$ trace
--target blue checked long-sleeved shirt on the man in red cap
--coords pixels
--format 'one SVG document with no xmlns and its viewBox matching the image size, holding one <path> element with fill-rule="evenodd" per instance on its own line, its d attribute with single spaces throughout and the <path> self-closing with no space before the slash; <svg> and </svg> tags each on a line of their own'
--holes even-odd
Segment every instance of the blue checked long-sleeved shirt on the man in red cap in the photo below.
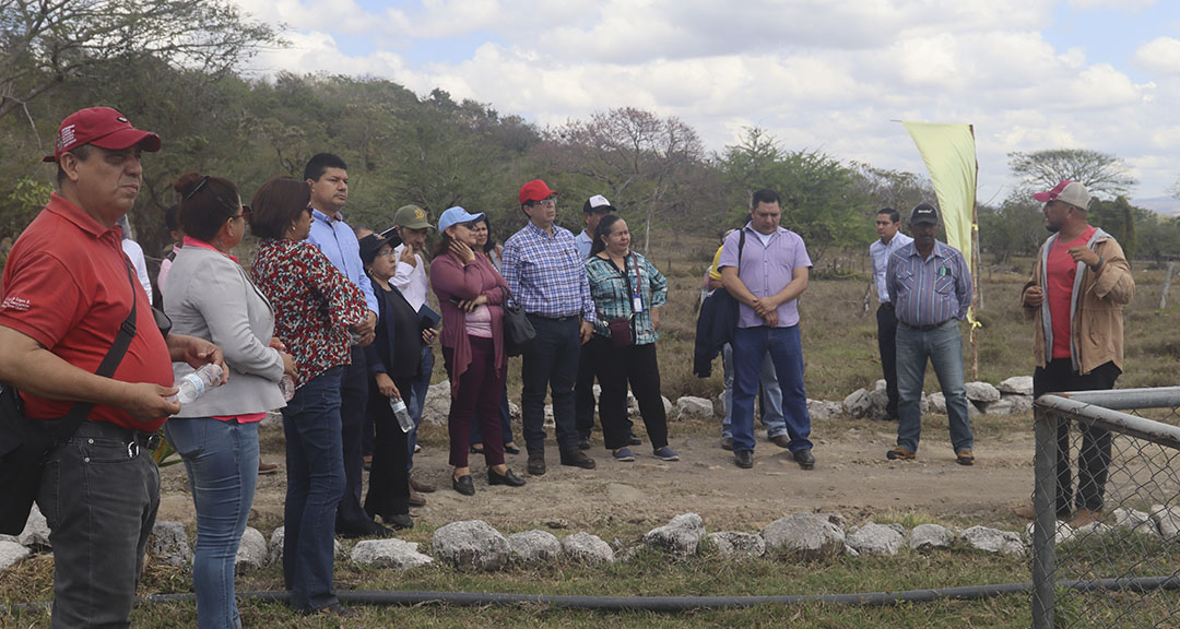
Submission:
<svg viewBox="0 0 1180 629">
<path fill-rule="evenodd" d="M 527 314 L 551 319 L 582 315 L 592 323 L 594 300 L 573 234 L 557 225 L 552 229 L 552 235 L 545 234 L 530 221 L 504 243 L 504 281 Z"/>
</svg>

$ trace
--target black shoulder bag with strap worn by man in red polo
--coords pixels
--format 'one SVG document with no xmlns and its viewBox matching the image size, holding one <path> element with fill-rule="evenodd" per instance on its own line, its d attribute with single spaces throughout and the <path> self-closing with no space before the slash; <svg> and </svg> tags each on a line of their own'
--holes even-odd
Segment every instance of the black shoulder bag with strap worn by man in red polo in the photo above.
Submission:
<svg viewBox="0 0 1180 629">
<path fill-rule="evenodd" d="M 103 378 L 114 375 L 131 339 L 136 335 L 135 275 L 127 262 L 131 287 L 131 313 L 119 326 L 114 342 L 94 372 Z M 91 402 L 74 402 L 60 419 L 30 419 L 21 407 L 17 387 L 0 382 L 0 533 L 19 535 L 25 529 L 28 513 L 41 485 L 45 458 L 58 444 L 73 437 L 93 408 Z"/>
</svg>

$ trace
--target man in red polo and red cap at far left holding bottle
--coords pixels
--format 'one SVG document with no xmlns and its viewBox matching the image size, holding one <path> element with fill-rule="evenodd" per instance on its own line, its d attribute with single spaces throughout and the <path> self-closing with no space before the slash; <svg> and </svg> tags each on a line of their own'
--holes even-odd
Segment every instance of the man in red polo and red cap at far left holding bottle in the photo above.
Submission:
<svg viewBox="0 0 1180 629">
<path fill-rule="evenodd" d="M 116 222 L 139 195 L 140 152 L 159 148 L 112 109 L 66 118 L 45 158 L 58 164 L 58 191 L 0 283 L 0 380 L 20 389 L 31 419 L 86 417 L 46 456 L 37 493 L 52 530 L 53 627 L 127 624 L 159 506 L 150 438 L 181 409 L 169 400 L 171 362 L 224 368 L 208 341 L 164 339 L 120 247 Z M 111 378 L 97 375 L 132 309 L 125 354 Z"/>
</svg>

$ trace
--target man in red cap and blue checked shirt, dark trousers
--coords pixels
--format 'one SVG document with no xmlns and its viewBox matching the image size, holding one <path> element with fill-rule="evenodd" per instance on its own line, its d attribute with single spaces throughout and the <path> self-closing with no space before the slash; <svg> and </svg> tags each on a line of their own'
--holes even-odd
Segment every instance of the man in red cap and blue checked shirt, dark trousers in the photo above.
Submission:
<svg viewBox="0 0 1180 629">
<path fill-rule="evenodd" d="M 529 473 L 545 473 L 545 386 L 553 397 L 553 421 L 562 465 L 594 470 L 594 459 L 578 448 L 573 382 L 582 343 L 594 333 L 595 307 L 585 263 L 573 234 L 553 221 L 557 192 L 533 179 L 520 186 L 520 209 L 529 224 L 504 243 L 504 280 L 513 301 L 537 330 L 522 356 L 520 413 Z"/>
</svg>

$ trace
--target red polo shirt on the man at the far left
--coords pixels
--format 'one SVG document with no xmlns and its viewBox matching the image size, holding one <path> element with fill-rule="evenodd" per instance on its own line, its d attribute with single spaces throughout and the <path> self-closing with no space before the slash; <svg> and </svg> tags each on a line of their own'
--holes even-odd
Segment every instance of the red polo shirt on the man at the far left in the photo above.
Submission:
<svg viewBox="0 0 1180 629">
<path fill-rule="evenodd" d="M 136 293 L 136 335 L 114 372 L 124 382 L 172 386 L 168 346 L 139 282 L 127 279 L 117 229 L 106 228 L 57 194 L 17 238 L 0 282 L 0 326 L 32 338 L 87 372 L 114 342 Z M 21 393 L 28 417 L 65 415 L 71 401 Z M 94 421 L 155 432 L 166 418 L 138 422 L 113 406 L 94 406 Z"/>
</svg>

